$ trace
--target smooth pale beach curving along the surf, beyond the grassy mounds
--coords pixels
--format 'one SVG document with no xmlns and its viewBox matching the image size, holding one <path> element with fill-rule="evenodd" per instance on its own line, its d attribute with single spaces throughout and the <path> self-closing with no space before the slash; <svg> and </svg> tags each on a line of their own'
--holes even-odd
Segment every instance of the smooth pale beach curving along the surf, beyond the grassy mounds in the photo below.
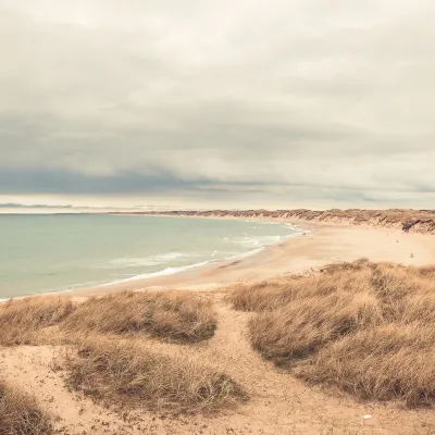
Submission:
<svg viewBox="0 0 435 435">
<path fill-rule="evenodd" d="M 282 219 L 279 221 L 285 222 Z M 71 294 L 86 297 L 150 287 L 211 289 L 234 283 L 253 283 L 302 273 L 328 263 L 360 258 L 409 265 L 435 262 L 435 237 L 432 235 L 403 233 L 397 228 L 316 223 L 295 219 L 286 222 L 308 232 L 246 258 L 216 262 L 169 276 L 75 289 Z"/>
</svg>

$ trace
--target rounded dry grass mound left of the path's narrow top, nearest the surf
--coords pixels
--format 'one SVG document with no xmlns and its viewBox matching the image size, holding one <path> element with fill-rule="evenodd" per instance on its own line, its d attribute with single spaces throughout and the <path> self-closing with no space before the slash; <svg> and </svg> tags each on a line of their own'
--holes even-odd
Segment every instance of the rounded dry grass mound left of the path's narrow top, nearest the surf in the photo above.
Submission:
<svg viewBox="0 0 435 435">
<path fill-rule="evenodd" d="M 211 302 L 188 291 L 123 291 L 91 298 L 62 323 L 71 332 L 147 334 L 187 343 L 212 337 L 215 326 Z"/>
</svg>

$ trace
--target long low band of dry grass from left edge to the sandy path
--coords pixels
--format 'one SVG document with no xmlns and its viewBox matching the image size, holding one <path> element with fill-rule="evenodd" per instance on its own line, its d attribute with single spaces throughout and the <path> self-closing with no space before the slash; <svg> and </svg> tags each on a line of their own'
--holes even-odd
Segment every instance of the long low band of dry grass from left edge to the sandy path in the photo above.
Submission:
<svg viewBox="0 0 435 435">
<path fill-rule="evenodd" d="M 0 345 L 80 341 L 89 333 L 149 335 L 179 343 L 213 336 L 210 301 L 183 291 L 123 291 L 75 303 L 37 296 L 0 304 Z"/>
</svg>

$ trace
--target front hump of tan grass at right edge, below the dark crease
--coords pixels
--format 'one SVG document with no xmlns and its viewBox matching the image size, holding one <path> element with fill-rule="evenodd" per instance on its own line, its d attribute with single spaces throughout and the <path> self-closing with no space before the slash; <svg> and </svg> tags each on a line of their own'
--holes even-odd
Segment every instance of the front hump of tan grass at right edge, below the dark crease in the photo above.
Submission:
<svg viewBox="0 0 435 435">
<path fill-rule="evenodd" d="M 311 384 L 338 386 L 362 399 L 435 402 L 435 331 L 413 323 L 359 331 L 322 349 L 296 373 Z"/>
</svg>

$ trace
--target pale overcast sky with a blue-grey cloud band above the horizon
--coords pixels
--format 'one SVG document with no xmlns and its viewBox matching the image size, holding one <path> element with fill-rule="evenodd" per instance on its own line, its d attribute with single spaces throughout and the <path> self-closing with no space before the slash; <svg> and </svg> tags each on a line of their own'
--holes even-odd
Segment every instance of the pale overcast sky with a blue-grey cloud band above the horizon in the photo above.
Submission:
<svg viewBox="0 0 435 435">
<path fill-rule="evenodd" d="M 0 210 L 435 208 L 435 2 L 0 0 Z"/>
</svg>

